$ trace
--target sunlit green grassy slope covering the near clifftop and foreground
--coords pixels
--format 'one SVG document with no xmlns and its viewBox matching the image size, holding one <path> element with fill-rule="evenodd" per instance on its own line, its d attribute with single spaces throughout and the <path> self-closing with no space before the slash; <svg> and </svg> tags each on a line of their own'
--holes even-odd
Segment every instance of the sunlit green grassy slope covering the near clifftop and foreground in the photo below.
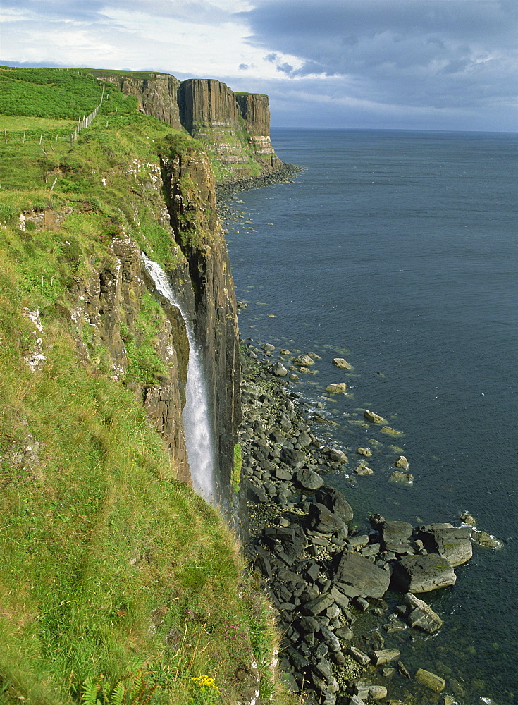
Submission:
<svg viewBox="0 0 518 705">
<path fill-rule="evenodd" d="M 36 117 L 45 117 L 44 80 L 28 78 L 24 105 L 32 96 Z M 75 112 L 92 109 L 92 82 L 77 81 L 85 107 Z M 56 112 L 47 119 L 68 117 Z M 244 577 L 235 540 L 175 481 L 142 407 L 102 372 L 102 351 L 96 357 L 90 345 L 90 360 L 80 362 L 80 331 L 61 313 L 73 307 L 74 280 L 87 280 L 121 231 L 162 264 L 180 256 L 154 219 L 156 204 L 136 199 L 128 176 L 138 162 L 140 183 L 147 168 L 152 178 L 153 140 L 170 132 L 109 87 L 73 149 L 53 141 L 51 127 L 47 154 L 0 142 L 1 704 L 76 702 L 89 679 L 104 674 L 113 685 L 128 673 L 142 674 L 144 694 L 156 686 L 152 703 L 185 705 L 195 693 L 232 703 L 252 648 L 267 670 L 268 611 Z M 21 210 L 65 207 L 73 211 L 58 230 L 18 228 Z M 42 333 L 24 307 L 39 309 Z M 152 330 L 160 309 L 152 301 L 143 309 L 156 319 L 143 323 Z M 37 336 L 47 362 L 34 373 L 23 357 Z M 202 694 L 192 681 L 202 675 L 214 677 L 221 697 L 210 686 Z"/>
</svg>

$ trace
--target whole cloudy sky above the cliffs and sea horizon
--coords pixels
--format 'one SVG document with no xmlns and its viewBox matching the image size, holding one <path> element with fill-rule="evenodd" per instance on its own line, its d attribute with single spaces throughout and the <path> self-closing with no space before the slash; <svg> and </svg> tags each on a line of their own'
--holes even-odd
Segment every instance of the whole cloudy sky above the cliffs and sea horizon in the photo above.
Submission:
<svg viewBox="0 0 518 705">
<path fill-rule="evenodd" d="M 518 130 L 517 0 L 0 0 L 0 63 L 266 93 L 271 125 Z"/>
</svg>

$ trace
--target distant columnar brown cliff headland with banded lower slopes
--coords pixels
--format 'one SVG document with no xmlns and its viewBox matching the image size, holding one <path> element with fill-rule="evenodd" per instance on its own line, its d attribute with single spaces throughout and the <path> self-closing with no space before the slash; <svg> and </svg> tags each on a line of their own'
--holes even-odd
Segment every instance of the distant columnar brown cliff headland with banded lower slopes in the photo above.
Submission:
<svg viewBox="0 0 518 705">
<path fill-rule="evenodd" d="M 180 82 L 166 73 L 92 73 L 137 97 L 145 114 L 200 140 L 212 157 L 218 181 L 259 176 L 283 166 L 271 145 L 267 95 L 234 93 L 209 78 Z"/>
</svg>

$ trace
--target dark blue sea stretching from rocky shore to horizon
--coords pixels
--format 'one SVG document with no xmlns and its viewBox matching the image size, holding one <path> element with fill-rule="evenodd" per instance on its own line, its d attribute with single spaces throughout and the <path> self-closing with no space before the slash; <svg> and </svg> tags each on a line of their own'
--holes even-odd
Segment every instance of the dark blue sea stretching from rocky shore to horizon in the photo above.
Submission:
<svg viewBox="0 0 518 705">
<path fill-rule="evenodd" d="M 234 201 L 240 333 L 321 357 L 293 388 L 338 423 L 331 442 L 351 471 L 357 446 L 374 451 L 374 475 L 327 476 L 357 527 L 373 512 L 459 526 L 467 510 L 503 541 L 474 546 L 457 584 L 426 596 L 438 635 L 395 645 L 462 705 L 518 703 L 518 135 L 282 129 L 272 141 L 306 170 Z M 333 381 L 347 395 L 327 395 Z M 403 435 L 365 427 L 366 408 Z M 397 448 L 412 487 L 388 482 Z M 405 692 L 395 678 L 390 692 Z"/>
</svg>

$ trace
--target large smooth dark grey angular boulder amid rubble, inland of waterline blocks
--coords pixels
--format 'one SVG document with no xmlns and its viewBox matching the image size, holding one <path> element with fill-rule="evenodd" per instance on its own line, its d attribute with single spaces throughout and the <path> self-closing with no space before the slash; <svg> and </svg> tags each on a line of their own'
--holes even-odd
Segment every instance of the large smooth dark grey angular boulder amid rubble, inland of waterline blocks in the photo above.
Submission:
<svg viewBox="0 0 518 705">
<path fill-rule="evenodd" d="M 333 584 L 348 597 L 381 598 L 388 590 L 390 575 L 359 553 L 338 553 Z M 408 591 L 408 590 L 407 590 Z"/>
</svg>

